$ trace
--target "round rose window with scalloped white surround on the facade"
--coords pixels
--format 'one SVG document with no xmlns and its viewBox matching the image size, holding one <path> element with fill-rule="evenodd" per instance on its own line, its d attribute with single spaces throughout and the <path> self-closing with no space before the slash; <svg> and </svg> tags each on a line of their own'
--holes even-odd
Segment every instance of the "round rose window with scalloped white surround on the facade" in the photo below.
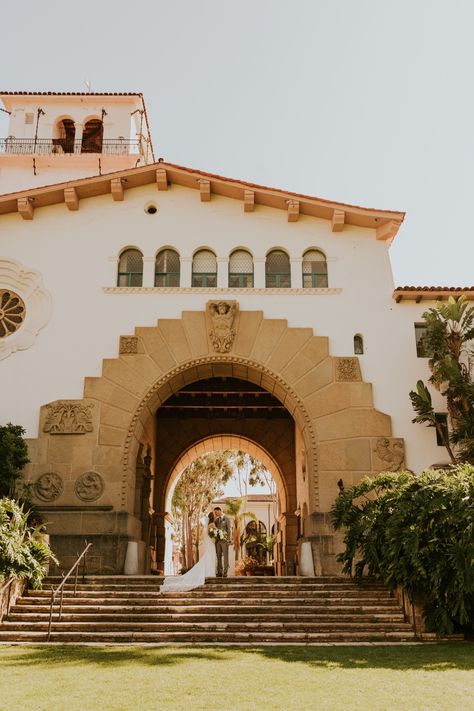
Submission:
<svg viewBox="0 0 474 711">
<path fill-rule="evenodd" d="M 0 360 L 30 348 L 51 314 L 41 274 L 14 259 L 0 259 Z"/>
</svg>

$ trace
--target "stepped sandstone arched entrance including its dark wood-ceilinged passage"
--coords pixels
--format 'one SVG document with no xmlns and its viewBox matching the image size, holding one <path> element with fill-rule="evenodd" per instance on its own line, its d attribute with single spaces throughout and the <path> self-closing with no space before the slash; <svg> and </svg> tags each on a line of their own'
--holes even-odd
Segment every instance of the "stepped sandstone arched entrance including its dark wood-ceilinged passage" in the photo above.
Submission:
<svg viewBox="0 0 474 711">
<path fill-rule="evenodd" d="M 235 387 L 222 394 L 224 382 Z M 64 567 L 87 536 L 96 571 L 121 572 L 127 542 L 150 540 L 150 515 L 158 552 L 172 472 L 183 453 L 222 436 L 256 443 L 278 463 L 292 541 L 311 540 L 323 573 L 339 569 L 329 518 L 337 482 L 403 464 L 403 442 L 374 409 L 356 357 L 330 356 L 312 329 L 209 302 L 121 336 L 118 356 L 85 379 L 82 400 L 41 408 L 28 474 Z"/>
</svg>

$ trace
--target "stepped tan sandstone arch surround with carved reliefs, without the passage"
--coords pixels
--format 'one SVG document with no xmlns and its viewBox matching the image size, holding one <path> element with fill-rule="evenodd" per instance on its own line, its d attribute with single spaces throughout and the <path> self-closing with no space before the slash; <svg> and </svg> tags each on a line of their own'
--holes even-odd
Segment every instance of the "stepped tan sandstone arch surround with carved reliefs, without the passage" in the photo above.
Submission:
<svg viewBox="0 0 474 711">
<path fill-rule="evenodd" d="M 146 446 L 156 460 L 155 413 L 187 383 L 230 373 L 264 388 L 289 412 L 297 509 L 307 511 L 302 533 L 313 542 L 320 572 L 337 569 L 328 519 L 337 481 L 402 466 L 403 442 L 392 438 L 390 417 L 373 407 L 356 357 L 331 356 L 328 339 L 312 329 L 220 304 L 121 336 L 119 354 L 103 361 L 101 376 L 85 378 L 82 400 L 41 408 L 28 475 L 39 480 L 38 502 L 53 522 L 65 567 L 77 537 L 87 535 L 96 539 L 97 570 L 120 572 L 127 540 L 142 535 L 137 455 Z"/>
</svg>

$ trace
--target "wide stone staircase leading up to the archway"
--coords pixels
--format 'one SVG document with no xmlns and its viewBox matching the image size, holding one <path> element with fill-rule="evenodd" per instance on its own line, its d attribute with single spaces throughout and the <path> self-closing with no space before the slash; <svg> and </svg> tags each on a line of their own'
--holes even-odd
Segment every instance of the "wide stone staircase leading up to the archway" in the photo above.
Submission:
<svg viewBox="0 0 474 711">
<path fill-rule="evenodd" d="M 50 642 L 110 644 L 318 644 L 415 640 L 390 592 L 347 578 L 208 578 L 190 592 L 161 594 L 153 576 L 87 576 L 55 605 Z M 50 586 L 18 598 L 0 642 L 47 639 Z"/>
</svg>

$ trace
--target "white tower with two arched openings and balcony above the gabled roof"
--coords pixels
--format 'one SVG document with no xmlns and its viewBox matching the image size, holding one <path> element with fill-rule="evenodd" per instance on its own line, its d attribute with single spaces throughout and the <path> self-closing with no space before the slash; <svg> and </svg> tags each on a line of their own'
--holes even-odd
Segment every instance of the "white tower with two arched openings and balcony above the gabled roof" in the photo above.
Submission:
<svg viewBox="0 0 474 711">
<path fill-rule="evenodd" d="M 0 92 L 0 194 L 154 162 L 139 93 Z"/>
</svg>

